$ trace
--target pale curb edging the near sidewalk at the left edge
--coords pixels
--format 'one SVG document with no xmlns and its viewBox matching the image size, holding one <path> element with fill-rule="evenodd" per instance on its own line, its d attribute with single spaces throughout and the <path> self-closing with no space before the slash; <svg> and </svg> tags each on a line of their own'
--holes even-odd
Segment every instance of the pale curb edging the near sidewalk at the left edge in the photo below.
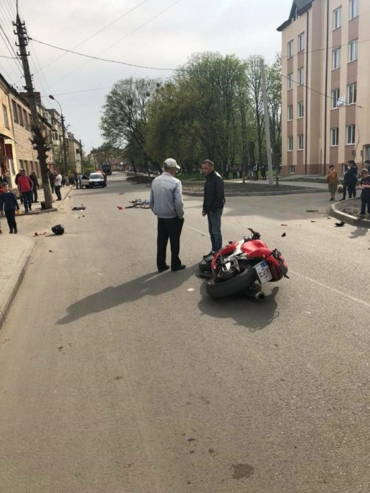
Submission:
<svg viewBox="0 0 370 493">
<path fill-rule="evenodd" d="M 19 287 L 21 286 L 23 277 L 25 277 L 25 273 L 29 266 L 29 262 L 31 262 L 34 249 L 36 248 L 36 242 L 31 239 L 30 241 L 32 241 L 32 246 L 23 251 L 23 254 L 18 262 L 20 267 L 16 268 L 16 271 L 12 273 L 8 281 L 6 281 L 5 288 L 3 288 L 0 292 L 0 330 L 6 323 L 6 318 L 10 308 L 12 307 L 12 303 L 16 297 Z"/>
</svg>

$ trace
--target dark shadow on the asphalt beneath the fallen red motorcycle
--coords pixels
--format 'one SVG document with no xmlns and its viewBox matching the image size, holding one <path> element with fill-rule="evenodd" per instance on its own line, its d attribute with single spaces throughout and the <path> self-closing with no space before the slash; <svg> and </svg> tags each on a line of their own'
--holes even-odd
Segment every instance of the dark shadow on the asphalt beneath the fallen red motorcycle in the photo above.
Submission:
<svg viewBox="0 0 370 493">
<path fill-rule="evenodd" d="M 256 332 L 270 325 L 280 315 L 277 311 L 275 296 L 279 288 L 274 286 L 271 293 L 265 290 L 266 297 L 257 301 L 249 296 L 233 296 L 230 298 L 211 299 L 206 293 L 206 284 L 201 286 L 202 299 L 198 303 L 199 310 L 214 318 L 234 318 L 236 325 L 241 325 Z"/>
</svg>

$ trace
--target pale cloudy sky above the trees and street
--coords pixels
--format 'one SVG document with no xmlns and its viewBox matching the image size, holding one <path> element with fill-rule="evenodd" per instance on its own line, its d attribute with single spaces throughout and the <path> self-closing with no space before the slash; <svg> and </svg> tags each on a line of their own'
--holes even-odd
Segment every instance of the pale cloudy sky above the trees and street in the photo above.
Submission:
<svg viewBox="0 0 370 493">
<path fill-rule="evenodd" d="M 293 0 L 18 0 L 29 42 L 34 88 L 47 108 L 59 109 L 82 140 L 84 153 L 102 142 L 99 122 L 106 94 L 126 77 L 171 77 L 171 71 L 90 60 L 42 45 L 128 64 L 177 68 L 202 51 L 262 55 L 272 63 L 281 49 L 276 28 Z M 0 0 L 0 55 L 14 57 L 11 21 L 16 0 Z M 108 26 L 108 27 L 107 27 Z M 98 32 L 100 31 L 100 32 Z M 98 34 L 96 34 L 98 33 Z M 90 38 L 90 39 L 88 39 Z M 82 43 L 82 44 L 81 44 Z M 10 47 L 10 44 L 13 46 Z M 17 60 L 1 58 L 0 73 L 14 87 L 24 84 Z"/>
</svg>

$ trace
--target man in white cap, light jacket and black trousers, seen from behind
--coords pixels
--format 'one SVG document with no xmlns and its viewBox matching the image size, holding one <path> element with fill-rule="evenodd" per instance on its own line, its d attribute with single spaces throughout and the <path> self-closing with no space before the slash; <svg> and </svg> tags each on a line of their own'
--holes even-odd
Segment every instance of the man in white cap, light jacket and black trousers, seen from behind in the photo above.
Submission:
<svg viewBox="0 0 370 493">
<path fill-rule="evenodd" d="M 175 178 L 177 162 L 169 157 L 164 161 L 162 175 L 153 179 L 150 192 L 150 208 L 158 218 L 157 268 L 162 273 L 169 269 L 166 264 L 167 243 L 171 245 L 171 270 L 186 268 L 181 263 L 180 236 L 184 225 L 184 203 L 182 202 L 182 184 Z"/>
</svg>

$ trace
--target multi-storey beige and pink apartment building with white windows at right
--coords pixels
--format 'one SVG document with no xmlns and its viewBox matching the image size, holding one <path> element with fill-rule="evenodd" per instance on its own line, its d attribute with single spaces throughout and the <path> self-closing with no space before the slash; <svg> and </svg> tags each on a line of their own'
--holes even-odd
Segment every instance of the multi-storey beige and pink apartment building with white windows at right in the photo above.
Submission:
<svg viewBox="0 0 370 493">
<path fill-rule="evenodd" d="M 295 0 L 282 33 L 282 174 L 370 160 L 369 0 Z"/>
</svg>

